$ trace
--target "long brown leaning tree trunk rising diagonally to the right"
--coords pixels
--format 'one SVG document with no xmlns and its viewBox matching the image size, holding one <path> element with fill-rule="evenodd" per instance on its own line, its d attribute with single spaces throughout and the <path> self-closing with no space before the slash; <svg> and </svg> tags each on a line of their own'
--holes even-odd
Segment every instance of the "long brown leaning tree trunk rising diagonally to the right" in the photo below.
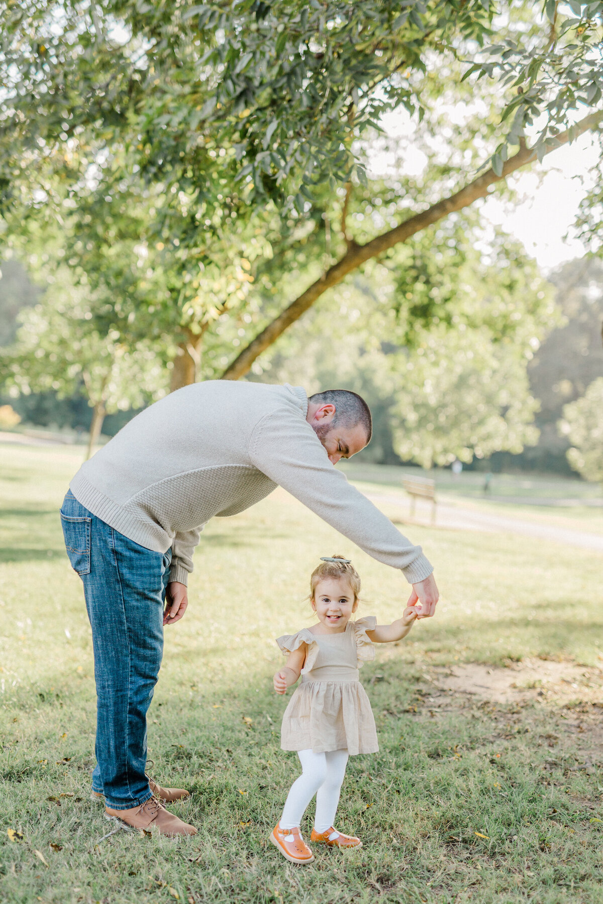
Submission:
<svg viewBox="0 0 603 904">
<path fill-rule="evenodd" d="M 570 140 L 573 141 L 583 132 L 596 127 L 601 118 L 603 118 L 603 113 L 598 112 L 581 119 L 567 132 L 562 132 L 558 135 L 556 138 L 557 143 L 554 146 L 547 147 L 545 153 L 550 154 L 557 147 L 567 144 Z M 240 377 L 249 372 L 256 358 L 275 343 L 288 326 L 295 323 L 301 315 L 305 314 L 308 308 L 313 306 L 316 300 L 325 294 L 327 289 L 342 282 L 348 273 L 360 267 L 367 260 L 382 254 L 383 251 L 393 248 L 394 245 L 407 241 L 411 236 L 416 235 L 417 232 L 426 229 L 426 227 L 438 222 L 438 220 L 442 220 L 448 214 L 463 210 L 464 207 L 476 202 L 478 198 L 484 198 L 488 194 L 491 185 L 504 180 L 506 176 L 514 173 L 515 170 L 522 166 L 531 164 L 535 159 L 536 153 L 534 150 L 523 145 L 517 154 L 506 161 L 501 175 L 496 175 L 492 169 L 486 170 L 484 174 L 478 176 L 459 192 L 433 204 L 427 211 L 409 217 L 408 220 L 400 223 L 399 226 L 383 232 L 382 235 L 378 235 L 365 245 L 357 245 L 353 240 L 349 240 L 344 257 L 338 260 L 333 267 L 326 270 L 312 286 L 307 288 L 302 295 L 297 297 L 281 314 L 275 317 L 255 339 L 252 339 L 250 344 L 240 352 L 238 357 L 222 373 L 221 380 L 239 380 Z"/>
</svg>

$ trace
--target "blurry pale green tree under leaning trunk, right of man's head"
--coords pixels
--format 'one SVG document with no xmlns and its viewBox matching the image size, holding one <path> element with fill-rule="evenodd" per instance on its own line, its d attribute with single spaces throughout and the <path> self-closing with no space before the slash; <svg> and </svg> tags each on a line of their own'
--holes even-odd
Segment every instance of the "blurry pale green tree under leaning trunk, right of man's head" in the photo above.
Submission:
<svg viewBox="0 0 603 904">
<path fill-rule="evenodd" d="M 423 237 L 420 248 L 400 249 L 398 268 L 372 264 L 340 287 L 273 347 L 264 379 L 360 392 L 384 412 L 398 456 L 425 467 L 533 444 L 538 402 L 526 371 L 558 321 L 551 286 L 504 233 L 489 237 L 488 253 L 479 250 L 485 241 L 471 225 L 449 224 L 436 242 Z M 446 266 L 447 252 L 462 258 L 459 268 Z M 417 261 L 422 272 L 413 273 Z M 406 294 L 400 274 L 439 297 L 441 319 L 433 307 L 424 325 L 416 312 L 396 316 L 395 297 Z M 451 329 L 445 317 L 455 295 Z"/>
</svg>

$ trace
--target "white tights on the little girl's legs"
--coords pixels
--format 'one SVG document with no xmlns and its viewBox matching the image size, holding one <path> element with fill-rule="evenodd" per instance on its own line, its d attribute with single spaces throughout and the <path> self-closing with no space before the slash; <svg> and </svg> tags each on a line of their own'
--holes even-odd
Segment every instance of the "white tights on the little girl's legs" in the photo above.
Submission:
<svg viewBox="0 0 603 904">
<path fill-rule="evenodd" d="M 312 750 L 298 750 L 297 756 L 302 764 L 302 774 L 295 780 L 287 795 L 280 827 L 298 827 L 306 806 L 316 795 L 314 827 L 316 832 L 326 832 L 334 824 L 348 752 L 329 750 L 327 753 L 313 753 Z"/>
</svg>

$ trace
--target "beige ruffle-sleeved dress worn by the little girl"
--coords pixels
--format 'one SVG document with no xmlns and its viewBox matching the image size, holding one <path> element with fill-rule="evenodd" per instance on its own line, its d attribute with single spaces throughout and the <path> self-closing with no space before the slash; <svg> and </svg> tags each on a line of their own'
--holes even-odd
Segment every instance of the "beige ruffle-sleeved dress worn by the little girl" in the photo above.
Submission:
<svg viewBox="0 0 603 904">
<path fill-rule="evenodd" d="M 374 616 L 349 621 L 341 634 L 312 634 L 308 628 L 278 637 L 284 654 L 307 644 L 301 683 L 291 697 L 280 731 L 283 750 L 348 750 L 350 755 L 379 749 L 371 703 L 358 670 L 374 659 L 366 636 Z"/>
</svg>

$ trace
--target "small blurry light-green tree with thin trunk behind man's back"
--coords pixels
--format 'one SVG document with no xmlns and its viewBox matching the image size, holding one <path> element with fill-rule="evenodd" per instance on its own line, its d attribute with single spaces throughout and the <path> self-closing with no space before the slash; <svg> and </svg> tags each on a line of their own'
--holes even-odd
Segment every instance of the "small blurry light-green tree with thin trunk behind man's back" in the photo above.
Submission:
<svg viewBox="0 0 603 904">
<path fill-rule="evenodd" d="M 14 346 L 3 354 L 9 390 L 29 395 L 56 391 L 60 398 L 83 391 L 93 410 L 87 457 L 106 414 L 139 408 L 167 391 L 165 368 L 152 343 L 134 347 L 115 330 L 102 333 L 92 314 L 95 299 L 70 285 L 67 268 L 33 307 L 19 315 Z"/>
</svg>

